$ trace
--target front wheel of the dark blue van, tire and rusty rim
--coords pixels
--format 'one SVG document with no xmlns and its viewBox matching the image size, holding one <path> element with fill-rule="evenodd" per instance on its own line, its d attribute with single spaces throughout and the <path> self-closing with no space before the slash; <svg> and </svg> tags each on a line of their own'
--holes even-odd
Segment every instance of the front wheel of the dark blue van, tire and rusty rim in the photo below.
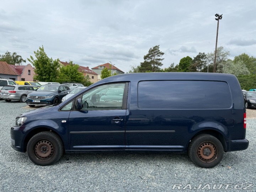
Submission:
<svg viewBox="0 0 256 192">
<path fill-rule="evenodd" d="M 28 142 L 27 154 L 36 165 L 52 165 L 63 154 L 62 140 L 52 132 L 37 133 Z"/>
</svg>

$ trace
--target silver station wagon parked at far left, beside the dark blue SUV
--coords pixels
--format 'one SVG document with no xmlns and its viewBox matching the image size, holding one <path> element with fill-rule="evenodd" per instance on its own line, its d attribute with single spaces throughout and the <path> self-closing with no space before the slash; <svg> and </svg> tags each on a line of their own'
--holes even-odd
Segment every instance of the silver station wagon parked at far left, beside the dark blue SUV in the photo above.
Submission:
<svg viewBox="0 0 256 192">
<path fill-rule="evenodd" d="M 31 85 L 6 85 L 0 90 L 0 99 L 26 102 L 27 95 L 36 91 L 38 87 Z"/>
</svg>

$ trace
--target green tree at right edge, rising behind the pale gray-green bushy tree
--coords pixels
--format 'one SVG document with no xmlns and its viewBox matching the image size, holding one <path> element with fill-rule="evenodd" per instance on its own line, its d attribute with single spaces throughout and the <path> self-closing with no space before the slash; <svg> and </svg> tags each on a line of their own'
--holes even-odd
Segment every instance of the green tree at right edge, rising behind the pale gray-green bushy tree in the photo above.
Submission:
<svg viewBox="0 0 256 192">
<path fill-rule="evenodd" d="M 256 58 L 242 53 L 234 58 L 234 63 L 242 63 L 251 73 L 256 73 Z"/>
</svg>

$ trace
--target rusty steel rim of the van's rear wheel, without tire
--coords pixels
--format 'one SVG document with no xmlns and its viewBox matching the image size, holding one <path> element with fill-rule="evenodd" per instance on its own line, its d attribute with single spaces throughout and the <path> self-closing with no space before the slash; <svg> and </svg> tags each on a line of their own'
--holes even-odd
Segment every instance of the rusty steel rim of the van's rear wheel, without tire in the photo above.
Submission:
<svg viewBox="0 0 256 192">
<path fill-rule="evenodd" d="M 218 155 L 218 148 L 212 142 L 203 142 L 198 146 L 197 155 L 203 162 L 212 162 Z"/>
</svg>

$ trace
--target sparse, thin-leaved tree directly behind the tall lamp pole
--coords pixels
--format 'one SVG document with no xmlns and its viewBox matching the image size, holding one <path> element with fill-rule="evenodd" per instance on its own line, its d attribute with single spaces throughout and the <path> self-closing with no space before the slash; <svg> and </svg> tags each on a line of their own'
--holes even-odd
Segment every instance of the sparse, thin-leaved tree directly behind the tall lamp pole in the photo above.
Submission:
<svg viewBox="0 0 256 192">
<path fill-rule="evenodd" d="M 207 62 L 210 67 L 210 65 L 213 66 L 214 64 L 214 52 L 207 53 Z M 218 71 L 221 66 L 223 66 L 223 63 L 228 59 L 228 56 L 230 55 L 229 51 L 224 50 L 224 47 L 218 47 L 217 53 L 216 53 L 216 71 Z M 220 65 L 222 64 L 222 65 Z M 209 71 L 210 72 L 210 71 Z"/>
</svg>

